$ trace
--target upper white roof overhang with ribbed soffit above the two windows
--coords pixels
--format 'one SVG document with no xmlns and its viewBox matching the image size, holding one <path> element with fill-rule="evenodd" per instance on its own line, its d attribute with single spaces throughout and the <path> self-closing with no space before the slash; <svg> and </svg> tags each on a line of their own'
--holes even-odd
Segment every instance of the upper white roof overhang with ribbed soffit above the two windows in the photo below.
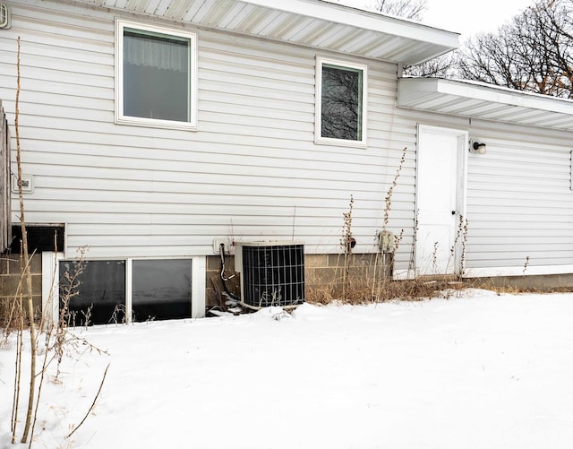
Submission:
<svg viewBox="0 0 573 449">
<path fill-rule="evenodd" d="M 71 1 L 407 65 L 458 47 L 458 33 L 323 0 Z"/>
</svg>

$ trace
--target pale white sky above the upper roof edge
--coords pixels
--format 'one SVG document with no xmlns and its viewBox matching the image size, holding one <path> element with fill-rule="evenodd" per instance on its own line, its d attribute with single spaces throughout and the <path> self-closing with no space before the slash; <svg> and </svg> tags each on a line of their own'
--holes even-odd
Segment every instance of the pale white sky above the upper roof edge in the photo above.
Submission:
<svg viewBox="0 0 573 449">
<path fill-rule="evenodd" d="M 341 4 L 364 7 L 373 0 L 339 0 Z M 461 34 L 467 39 L 483 31 L 495 31 L 534 0 L 427 0 L 428 8 L 423 13 L 423 23 Z"/>
</svg>

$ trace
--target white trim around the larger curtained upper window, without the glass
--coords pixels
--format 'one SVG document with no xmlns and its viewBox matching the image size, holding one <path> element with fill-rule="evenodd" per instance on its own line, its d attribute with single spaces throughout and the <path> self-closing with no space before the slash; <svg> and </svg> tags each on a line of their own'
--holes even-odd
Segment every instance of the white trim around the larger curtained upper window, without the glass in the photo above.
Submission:
<svg viewBox="0 0 573 449">
<path fill-rule="evenodd" d="M 189 57 L 189 77 L 191 90 L 189 99 L 189 122 L 158 120 L 156 118 L 124 116 L 124 28 L 151 31 L 189 39 L 191 55 Z M 136 125 L 156 128 L 197 130 L 197 34 L 191 31 L 174 30 L 140 22 L 115 20 L 115 123 L 118 125 Z"/>
</svg>

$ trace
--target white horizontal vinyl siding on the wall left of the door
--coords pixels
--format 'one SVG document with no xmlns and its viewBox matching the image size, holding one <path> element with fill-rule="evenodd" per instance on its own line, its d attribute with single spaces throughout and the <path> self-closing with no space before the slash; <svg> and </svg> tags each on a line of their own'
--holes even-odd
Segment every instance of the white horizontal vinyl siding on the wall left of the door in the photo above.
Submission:
<svg viewBox="0 0 573 449">
<path fill-rule="evenodd" d="M 20 35 L 23 171 L 35 183 L 27 219 L 65 222 L 68 255 L 207 255 L 213 237 L 295 237 L 307 252 L 334 252 L 351 195 L 355 251 L 371 251 L 408 147 L 389 225 L 405 229 L 407 259 L 415 121 L 394 114 L 396 65 L 367 62 L 367 149 L 315 145 L 316 52 L 195 30 L 198 131 L 115 125 L 114 15 L 26 3 L 11 4 L 13 27 L 0 34 L 0 98 L 13 123 Z"/>
</svg>

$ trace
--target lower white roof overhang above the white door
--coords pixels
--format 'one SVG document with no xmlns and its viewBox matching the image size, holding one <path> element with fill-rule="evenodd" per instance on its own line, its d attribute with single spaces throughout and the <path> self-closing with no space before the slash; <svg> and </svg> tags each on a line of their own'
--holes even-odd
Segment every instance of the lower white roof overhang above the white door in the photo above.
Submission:
<svg viewBox="0 0 573 449">
<path fill-rule="evenodd" d="M 478 82 L 402 78 L 398 107 L 573 131 L 573 101 Z"/>
</svg>

